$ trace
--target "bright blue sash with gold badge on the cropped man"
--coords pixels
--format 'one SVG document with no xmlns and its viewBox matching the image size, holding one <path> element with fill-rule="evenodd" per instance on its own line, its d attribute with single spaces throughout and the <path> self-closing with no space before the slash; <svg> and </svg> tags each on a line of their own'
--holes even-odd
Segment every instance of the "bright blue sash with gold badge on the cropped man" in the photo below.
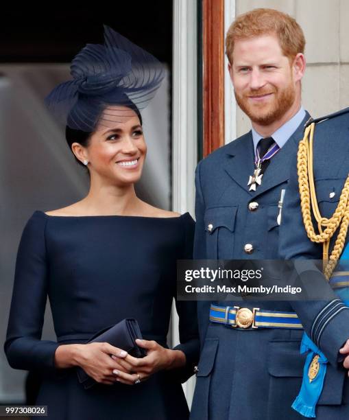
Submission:
<svg viewBox="0 0 349 420">
<path fill-rule="evenodd" d="M 337 270 L 330 277 L 330 285 L 336 294 L 349 306 L 349 244 L 341 255 Z M 300 353 L 306 356 L 300 393 L 293 401 L 292 408 L 304 417 L 314 418 L 317 401 L 324 386 L 328 360 L 311 339 L 303 334 Z"/>
</svg>

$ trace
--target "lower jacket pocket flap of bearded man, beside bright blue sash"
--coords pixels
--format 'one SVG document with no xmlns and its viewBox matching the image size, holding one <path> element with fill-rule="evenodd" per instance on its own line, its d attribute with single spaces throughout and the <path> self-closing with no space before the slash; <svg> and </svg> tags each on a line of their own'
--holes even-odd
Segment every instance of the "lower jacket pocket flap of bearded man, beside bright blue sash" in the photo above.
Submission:
<svg viewBox="0 0 349 420">
<path fill-rule="evenodd" d="M 300 341 L 270 341 L 267 369 L 276 377 L 302 377 L 305 356 L 300 354 Z"/>
</svg>

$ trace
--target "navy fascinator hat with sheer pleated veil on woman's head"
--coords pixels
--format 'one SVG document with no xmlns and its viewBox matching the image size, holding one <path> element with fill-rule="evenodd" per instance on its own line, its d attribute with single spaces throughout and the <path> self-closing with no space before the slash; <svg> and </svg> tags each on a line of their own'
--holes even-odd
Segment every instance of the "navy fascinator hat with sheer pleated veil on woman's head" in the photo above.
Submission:
<svg viewBox="0 0 349 420">
<path fill-rule="evenodd" d="M 123 122 L 145 108 L 165 76 L 152 54 L 104 25 L 104 45 L 87 44 L 71 62 L 73 80 L 45 103 L 60 122 L 86 132 Z M 133 112 L 134 111 L 134 112 Z"/>
</svg>

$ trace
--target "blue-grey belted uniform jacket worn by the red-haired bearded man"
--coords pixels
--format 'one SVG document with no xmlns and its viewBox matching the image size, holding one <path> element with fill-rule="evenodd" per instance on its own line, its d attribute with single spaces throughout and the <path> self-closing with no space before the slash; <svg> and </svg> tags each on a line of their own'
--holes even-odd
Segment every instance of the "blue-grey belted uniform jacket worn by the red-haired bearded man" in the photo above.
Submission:
<svg viewBox="0 0 349 420">
<path fill-rule="evenodd" d="M 288 194 L 290 163 L 307 119 L 309 114 L 271 159 L 256 191 L 248 187 L 254 172 L 251 132 L 199 163 L 195 259 L 278 259 L 278 201 L 282 189 Z M 246 253 L 246 244 L 252 245 L 252 253 Z M 216 303 L 292 311 L 289 302 Z M 198 302 L 202 352 L 191 419 L 302 419 L 291 409 L 302 382 L 302 330 L 242 330 L 209 323 L 209 307 L 210 302 Z"/>
</svg>

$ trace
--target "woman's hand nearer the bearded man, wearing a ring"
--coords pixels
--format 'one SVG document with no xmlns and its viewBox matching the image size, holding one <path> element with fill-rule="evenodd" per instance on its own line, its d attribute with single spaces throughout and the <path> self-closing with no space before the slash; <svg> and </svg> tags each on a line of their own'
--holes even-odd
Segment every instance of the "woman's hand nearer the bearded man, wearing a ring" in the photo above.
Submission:
<svg viewBox="0 0 349 420">
<path fill-rule="evenodd" d="M 153 373 L 163 369 L 174 369 L 176 367 L 184 366 L 186 362 L 185 355 L 180 350 L 165 349 L 156 341 L 136 340 L 139 347 L 147 350 L 147 355 L 144 358 L 134 358 L 127 355 L 125 362 L 132 365 L 133 374 L 119 371 L 117 373 L 118 382 L 127 385 L 134 385 L 147 380 Z"/>
</svg>

